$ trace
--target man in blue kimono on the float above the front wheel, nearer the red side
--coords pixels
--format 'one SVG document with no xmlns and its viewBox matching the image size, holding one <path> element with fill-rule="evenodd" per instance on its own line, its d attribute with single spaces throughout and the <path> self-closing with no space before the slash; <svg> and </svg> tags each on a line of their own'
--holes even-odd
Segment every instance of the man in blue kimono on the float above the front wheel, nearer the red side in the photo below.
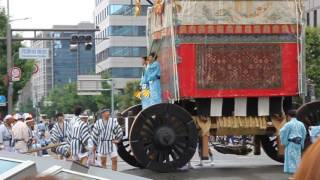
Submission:
<svg viewBox="0 0 320 180">
<path fill-rule="evenodd" d="M 157 61 L 155 53 L 151 53 L 148 57 L 150 61 L 145 78 L 150 90 L 149 106 L 161 103 L 161 85 L 160 85 L 160 64 Z"/>
</svg>

